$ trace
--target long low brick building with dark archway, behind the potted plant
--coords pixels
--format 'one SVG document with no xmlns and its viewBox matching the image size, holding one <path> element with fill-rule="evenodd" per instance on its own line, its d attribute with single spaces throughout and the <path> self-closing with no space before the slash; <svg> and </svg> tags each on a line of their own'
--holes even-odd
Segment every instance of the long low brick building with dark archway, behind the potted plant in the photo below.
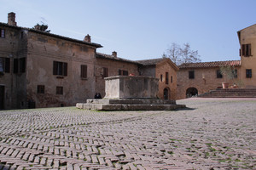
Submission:
<svg viewBox="0 0 256 170">
<path fill-rule="evenodd" d="M 216 88 L 222 88 L 224 76 L 220 73 L 221 66 L 234 66 L 237 82 L 241 75 L 241 61 L 214 61 L 201 63 L 185 63 L 179 65 L 177 72 L 177 99 L 185 99 L 198 94 L 207 93 Z"/>
</svg>

